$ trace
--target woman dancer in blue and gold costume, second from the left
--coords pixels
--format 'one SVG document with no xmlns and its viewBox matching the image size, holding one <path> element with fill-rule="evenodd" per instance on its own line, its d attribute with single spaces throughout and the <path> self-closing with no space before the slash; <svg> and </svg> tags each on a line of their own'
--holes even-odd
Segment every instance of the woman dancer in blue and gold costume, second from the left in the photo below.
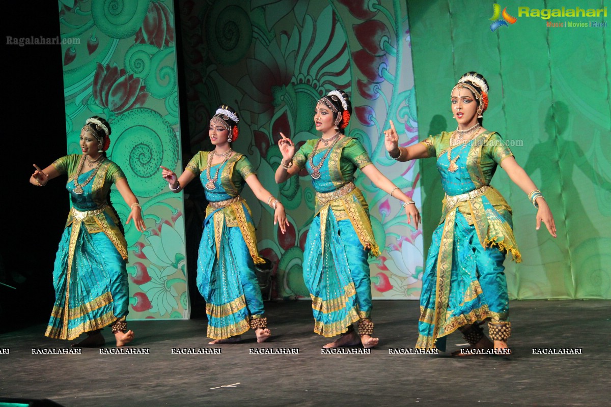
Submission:
<svg viewBox="0 0 611 407">
<path fill-rule="evenodd" d="M 246 156 L 231 148 L 230 143 L 238 139 L 239 121 L 235 110 L 222 105 L 210 120 L 208 135 L 214 150 L 197 153 L 180 178 L 161 167 L 163 178 L 175 193 L 199 176 L 208 200 L 197 260 L 197 288 L 207 303 L 210 344 L 239 342 L 249 328 L 255 330 L 257 342 L 271 336 L 254 270 L 255 264 L 265 261 L 258 255 L 250 209 L 240 196 L 244 182 L 274 209 L 274 225 L 278 224 L 282 233 L 288 225 L 284 206 L 263 188 Z"/>
</svg>

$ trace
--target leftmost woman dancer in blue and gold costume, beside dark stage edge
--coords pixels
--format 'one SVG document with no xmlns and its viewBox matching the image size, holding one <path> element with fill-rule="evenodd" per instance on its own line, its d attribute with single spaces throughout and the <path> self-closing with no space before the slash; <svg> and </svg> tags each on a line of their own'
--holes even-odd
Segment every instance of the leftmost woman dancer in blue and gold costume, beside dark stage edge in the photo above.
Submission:
<svg viewBox="0 0 611 407">
<path fill-rule="evenodd" d="M 130 299 L 127 271 L 127 243 L 122 225 L 109 201 L 111 184 L 117 185 L 131 207 L 127 223 L 134 220 L 144 231 L 142 208 L 121 168 L 106 157 L 111 143 L 111 126 L 101 117 L 91 117 L 81 129 L 82 154 L 70 154 L 36 171 L 30 183 L 43 187 L 49 179 L 68 175 L 72 209 L 59 242 L 53 269 L 55 304 L 45 335 L 56 339 L 88 337 L 75 347 L 104 344 L 101 329 L 111 325 L 117 346 L 134 339 L 125 317 Z"/>
</svg>

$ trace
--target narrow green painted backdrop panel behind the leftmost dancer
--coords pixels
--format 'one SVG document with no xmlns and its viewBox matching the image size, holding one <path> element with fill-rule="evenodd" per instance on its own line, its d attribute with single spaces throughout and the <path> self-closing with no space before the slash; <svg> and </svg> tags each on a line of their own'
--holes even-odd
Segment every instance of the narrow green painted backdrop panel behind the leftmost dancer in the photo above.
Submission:
<svg viewBox="0 0 611 407">
<path fill-rule="evenodd" d="M 79 153 L 87 117 L 106 117 L 108 155 L 142 204 L 148 230 L 126 226 L 129 319 L 188 318 L 182 195 L 167 189 L 159 165 L 181 167 L 172 1 L 61 0 L 68 153 Z M 79 41 L 75 41 L 79 40 Z M 113 189 L 123 222 L 130 208 Z"/>
</svg>

